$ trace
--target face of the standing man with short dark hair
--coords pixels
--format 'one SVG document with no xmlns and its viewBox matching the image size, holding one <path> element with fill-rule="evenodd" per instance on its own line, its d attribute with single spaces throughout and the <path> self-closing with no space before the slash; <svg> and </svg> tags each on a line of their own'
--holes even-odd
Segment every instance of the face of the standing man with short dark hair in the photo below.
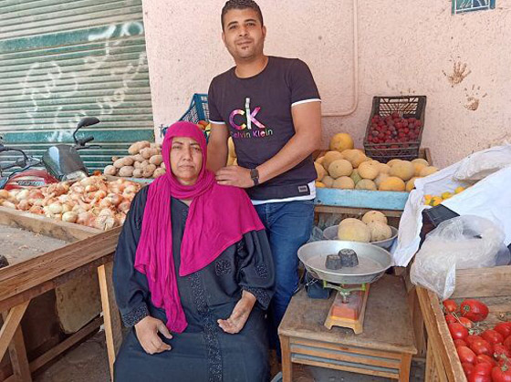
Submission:
<svg viewBox="0 0 511 382">
<path fill-rule="evenodd" d="M 224 15 L 222 39 L 235 61 L 251 60 L 263 55 L 266 27 L 255 10 L 231 9 Z"/>
</svg>

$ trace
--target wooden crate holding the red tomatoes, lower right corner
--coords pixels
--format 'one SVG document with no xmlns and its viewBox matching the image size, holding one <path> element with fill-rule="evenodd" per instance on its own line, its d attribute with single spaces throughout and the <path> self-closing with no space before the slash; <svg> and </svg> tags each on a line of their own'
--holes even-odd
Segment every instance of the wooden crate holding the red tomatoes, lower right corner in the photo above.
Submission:
<svg viewBox="0 0 511 382">
<path fill-rule="evenodd" d="M 456 354 L 440 299 L 427 289 L 418 287 L 424 324 L 428 334 L 426 381 L 466 382 L 462 364 Z M 456 288 L 451 296 L 457 303 L 465 298 L 477 298 L 490 310 L 485 322 L 494 325 L 498 315 L 507 321 L 511 314 L 511 266 L 456 271 Z"/>
</svg>

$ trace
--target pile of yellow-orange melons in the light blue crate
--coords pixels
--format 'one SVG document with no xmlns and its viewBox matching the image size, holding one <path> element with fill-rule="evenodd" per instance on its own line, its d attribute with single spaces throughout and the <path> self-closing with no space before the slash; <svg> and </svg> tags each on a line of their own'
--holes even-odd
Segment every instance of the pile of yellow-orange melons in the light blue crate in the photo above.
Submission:
<svg viewBox="0 0 511 382">
<path fill-rule="evenodd" d="M 318 188 L 412 191 L 417 178 L 426 177 L 438 170 L 422 159 L 396 159 L 388 163 L 371 160 L 362 150 L 352 149 L 352 140 L 350 145 L 339 145 L 339 135 L 348 134 L 336 134 L 330 142 L 330 150 L 314 162 L 318 173 Z"/>
</svg>

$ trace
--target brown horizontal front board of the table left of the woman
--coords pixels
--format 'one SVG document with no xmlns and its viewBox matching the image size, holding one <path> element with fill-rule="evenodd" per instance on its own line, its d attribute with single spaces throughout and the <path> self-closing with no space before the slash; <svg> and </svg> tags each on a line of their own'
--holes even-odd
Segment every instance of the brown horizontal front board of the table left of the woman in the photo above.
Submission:
<svg viewBox="0 0 511 382">
<path fill-rule="evenodd" d="M 0 301 L 115 252 L 122 227 L 0 270 Z"/>
</svg>

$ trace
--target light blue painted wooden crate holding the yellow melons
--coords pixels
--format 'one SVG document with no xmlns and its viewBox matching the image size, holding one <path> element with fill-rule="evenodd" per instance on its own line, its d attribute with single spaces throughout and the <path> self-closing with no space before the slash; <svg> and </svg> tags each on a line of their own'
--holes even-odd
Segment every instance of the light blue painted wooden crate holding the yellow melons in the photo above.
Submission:
<svg viewBox="0 0 511 382">
<path fill-rule="evenodd" d="M 326 151 L 318 151 L 314 158 L 324 155 Z M 433 165 L 429 149 L 420 150 L 420 158 Z M 401 216 L 404 205 L 408 200 L 409 192 L 396 191 L 365 191 L 365 190 L 338 190 L 328 188 L 316 189 L 317 212 L 339 212 L 339 207 L 358 209 L 364 211 L 382 210 L 388 216 Z M 338 210 L 336 210 L 336 208 Z M 350 213 L 350 212 L 347 212 Z"/>
</svg>

